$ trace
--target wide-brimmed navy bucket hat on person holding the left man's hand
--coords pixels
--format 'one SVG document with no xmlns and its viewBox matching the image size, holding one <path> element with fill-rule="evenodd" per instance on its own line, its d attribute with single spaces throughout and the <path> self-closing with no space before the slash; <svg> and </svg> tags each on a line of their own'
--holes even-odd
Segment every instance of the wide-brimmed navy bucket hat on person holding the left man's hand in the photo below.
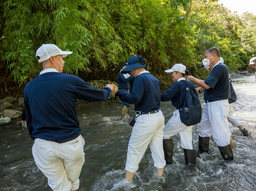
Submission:
<svg viewBox="0 0 256 191">
<path fill-rule="evenodd" d="M 122 74 L 127 74 L 130 71 L 137 70 L 139 68 L 146 68 L 147 66 L 142 62 L 142 56 L 131 56 L 128 60 L 128 65 L 124 70 L 121 71 Z"/>
</svg>

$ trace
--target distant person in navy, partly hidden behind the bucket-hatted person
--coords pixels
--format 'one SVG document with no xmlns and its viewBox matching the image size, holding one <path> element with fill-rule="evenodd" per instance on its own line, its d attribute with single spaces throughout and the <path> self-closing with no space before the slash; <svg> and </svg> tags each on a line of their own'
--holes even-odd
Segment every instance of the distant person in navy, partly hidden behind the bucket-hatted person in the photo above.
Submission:
<svg viewBox="0 0 256 191">
<path fill-rule="evenodd" d="M 122 63 L 122 70 L 126 68 L 128 65 L 127 62 Z M 127 94 L 130 94 L 130 84 L 129 82 L 134 82 L 134 75 L 122 74 L 121 71 L 117 74 L 117 83 L 118 83 L 118 89 L 120 89 L 122 92 L 126 92 Z M 129 112 L 130 104 L 127 102 L 124 102 L 122 112 L 121 112 L 121 120 L 124 120 L 124 117 L 126 117 L 126 114 Z"/>
</svg>

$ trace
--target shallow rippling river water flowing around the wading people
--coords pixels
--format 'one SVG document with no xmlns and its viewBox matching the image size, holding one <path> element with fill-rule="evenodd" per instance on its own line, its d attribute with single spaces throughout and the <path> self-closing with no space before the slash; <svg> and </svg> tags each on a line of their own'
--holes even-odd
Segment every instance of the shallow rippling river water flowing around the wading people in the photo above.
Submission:
<svg viewBox="0 0 256 191">
<path fill-rule="evenodd" d="M 230 124 L 236 147 L 233 162 L 224 162 L 218 146 L 210 141 L 208 154 L 197 158 L 197 165 L 185 166 L 178 134 L 173 136 L 173 164 L 164 169 L 165 183 L 157 179 L 154 161 L 148 147 L 135 173 L 134 191 L 253 191 L 256 190 L 256 83 L 254 76 L 233 79 L 238 96 L 233 105 L 236 117 L 251 132 L 250 137 Z M 164 92 L 164 91 L 163 91 Z M 202 107 L 203 95 L 199 95 Z M 161 102 L 165 123 L 172 117 L 171 102 Z M 122 104 L 118 100 L 78 105 L 77 114 L 85 140 L 85 163 L 80 174 L 81 191 L 122 191 L 113 188 L 125 177 L 127 147 L 132 128 L 128 125 L 135 116 L 131 105 L 127 122 L 119 120 Z M 193 149 L 198 149 L 198 129 L 192 129 Z M 32 156 L 33 140 L 20 119 L 0 126 L 0 190 L 50 191 L 47 179 L 36 167 Z"/>
</svg>

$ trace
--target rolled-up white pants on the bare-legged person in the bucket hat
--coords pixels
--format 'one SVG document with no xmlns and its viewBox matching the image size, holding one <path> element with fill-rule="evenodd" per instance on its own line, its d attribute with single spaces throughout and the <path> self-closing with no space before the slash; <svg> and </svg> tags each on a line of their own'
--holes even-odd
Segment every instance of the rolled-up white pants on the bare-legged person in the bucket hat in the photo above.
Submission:
<svg viewBox="0 0 256 191">
<path fill-rule="evenodd" d="M 137 117 L 138 115 L 136 115 Z M 136 172 L 146 149 L 150 146 L 154 166 L 165 167 L 163 149 L 164 115 L 161 111 L 140 115 L 132 129 L 127 151 L 126 170 Z"/>
</svg>

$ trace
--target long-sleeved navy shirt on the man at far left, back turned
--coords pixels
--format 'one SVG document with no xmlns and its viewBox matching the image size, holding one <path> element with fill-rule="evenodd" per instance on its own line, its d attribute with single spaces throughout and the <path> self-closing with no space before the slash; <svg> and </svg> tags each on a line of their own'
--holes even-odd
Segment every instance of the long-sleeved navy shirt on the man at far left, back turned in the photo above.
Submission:
<svg viewBox="0 0 256 191">
<path fill-rule="evenodd" d="M 58 72 L 41 74 L 24 89 L 26 122 L 31 138 L 58 143 L 77 138 L 81 129 L 76 115 L 76 100 L 97 102 L 106 100 L 110 94 L 110 88 L 93 88 L 74 75 Z"/>
</svg>

